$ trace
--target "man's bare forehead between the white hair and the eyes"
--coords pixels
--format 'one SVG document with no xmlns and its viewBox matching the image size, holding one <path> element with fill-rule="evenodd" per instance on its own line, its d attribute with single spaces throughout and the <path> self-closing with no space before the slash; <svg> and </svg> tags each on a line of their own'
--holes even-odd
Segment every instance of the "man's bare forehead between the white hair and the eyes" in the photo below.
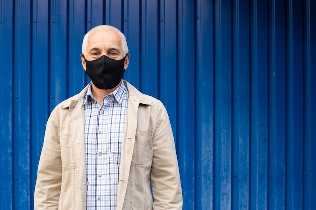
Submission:
<svg viewBox="0 0 316 210">
<path fill-rule="evenodd" d="M 93 31 L 88 37 L 87 50 L 91 48 L 119 48 L 122 50 L 120 35 L 113 30 Z"/>
</svg>

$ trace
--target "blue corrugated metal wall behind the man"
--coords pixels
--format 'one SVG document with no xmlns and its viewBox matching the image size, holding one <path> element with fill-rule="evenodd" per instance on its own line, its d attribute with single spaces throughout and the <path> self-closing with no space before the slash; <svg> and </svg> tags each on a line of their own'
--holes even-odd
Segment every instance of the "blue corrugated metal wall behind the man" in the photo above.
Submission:
<svg viewBox="0 0 316 210">
<path fill-rule="evenodd" d="M 316 2 L 0 0 L 1 209 L 32 209 L 45 123 L 88 83 L 81 41 L 127 37 L 166 105 L 184 209 L 315 209 Z"/>
</svg>

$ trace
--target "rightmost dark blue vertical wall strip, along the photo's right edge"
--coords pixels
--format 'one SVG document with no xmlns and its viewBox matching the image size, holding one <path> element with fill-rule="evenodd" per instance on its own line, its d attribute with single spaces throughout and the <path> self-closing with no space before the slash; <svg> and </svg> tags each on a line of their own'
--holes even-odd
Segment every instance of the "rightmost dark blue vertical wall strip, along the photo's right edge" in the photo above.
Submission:
<svg viewBox="0 0 316 210">
<path fill-rule="evenodd" d="M 316 130 L 316 112 L 314 107 L 316 106 L 316 100 L 313 95 L 316 93 L 316 85 L 314 83 L 316 79 L 316 62 L 312 57 L 316 55 L 315 46 L 316 43 L 312 37 L 316 36 L 316 30 L 314 27 L 316 24 L 316 15 L 312 11 L 316 9 L 314 1 L 304 1 L 304 64 L 305 64 L 305 99 L 304 99 L 304 190 L 303 190 L 303 203 L 304 209 L 312 209 L 316 205 L 314 199 L 314 193 L 316 189 L 316 156 L 314 148 L 316 148 L 316 142 L 314 141 L 314 131 Z"/>
</svg>

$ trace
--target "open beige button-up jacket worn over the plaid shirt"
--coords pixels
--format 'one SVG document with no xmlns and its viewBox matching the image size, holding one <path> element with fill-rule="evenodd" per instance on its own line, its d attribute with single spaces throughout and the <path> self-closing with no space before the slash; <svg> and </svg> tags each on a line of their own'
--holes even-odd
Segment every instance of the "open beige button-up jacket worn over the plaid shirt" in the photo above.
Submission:
<svg viewBox="0 0 316 210">
<path fill-rule="evenodd" d="M 124 83 L 129 100 L 117 209 L 182 209 L 178 162 L 166 109 L 159 100 Z M 57 105 L 47 121 L 35 186 L 37 210 L 86 209 L 86 91 L 87 87 Z"/>
</svg>

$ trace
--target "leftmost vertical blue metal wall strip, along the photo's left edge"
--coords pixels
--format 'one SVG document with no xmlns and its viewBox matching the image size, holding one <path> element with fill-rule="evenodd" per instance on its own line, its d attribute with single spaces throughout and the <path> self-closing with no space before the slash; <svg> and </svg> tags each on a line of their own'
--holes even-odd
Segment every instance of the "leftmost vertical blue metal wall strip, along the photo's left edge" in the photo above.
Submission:
<svg viewBox="0 0 316 210">
<path fill-rule="evenodd" d="M 14 8 L 15 2 L 0 1 L 0 131 L 2 147 L 0 148 L 0 168 L 3 170 L 0 178 L 2 180 L 2 206 L 12 208 L 14 205 Z"/>
</svg>

